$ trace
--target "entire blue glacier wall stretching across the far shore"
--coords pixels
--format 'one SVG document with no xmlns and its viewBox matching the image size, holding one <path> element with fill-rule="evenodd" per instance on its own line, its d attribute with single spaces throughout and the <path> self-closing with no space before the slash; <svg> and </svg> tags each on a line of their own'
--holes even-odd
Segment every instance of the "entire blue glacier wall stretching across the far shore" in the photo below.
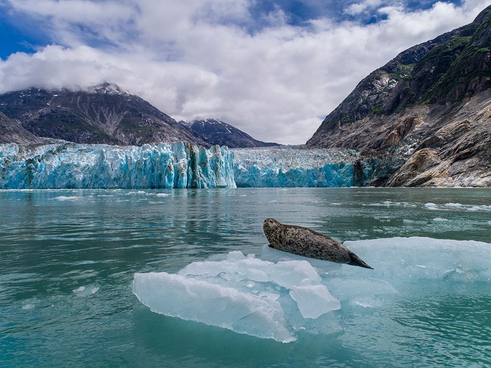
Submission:
<svg viewBox="0 0 491 368">
<path fill-rule="evenodd" d="M 375 166 L 353 150 L 297 146 L 10 143 L 0 145 L 0 189 L 361 186 Z"/>
</svg>

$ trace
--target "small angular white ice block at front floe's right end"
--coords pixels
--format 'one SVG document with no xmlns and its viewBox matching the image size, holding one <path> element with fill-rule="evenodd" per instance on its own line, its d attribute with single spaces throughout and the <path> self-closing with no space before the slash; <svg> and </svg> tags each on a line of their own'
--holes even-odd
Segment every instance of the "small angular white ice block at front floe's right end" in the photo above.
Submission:
<svg viewBox="0 0 491 368">
<path fill-rule="evenodd" d="M 290 295 L 297 302 L 303 318 L 315 319 L 341 308 L 339 300 L 334 298 L 324 285 L 294 286 Z"/>
</svg>

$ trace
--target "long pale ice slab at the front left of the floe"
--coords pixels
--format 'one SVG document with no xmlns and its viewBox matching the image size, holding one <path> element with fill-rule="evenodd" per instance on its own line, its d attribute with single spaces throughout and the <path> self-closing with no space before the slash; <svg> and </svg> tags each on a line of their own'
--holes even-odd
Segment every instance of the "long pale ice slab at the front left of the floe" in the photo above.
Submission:
<svg viewBox="0 0 491 368">
<path fill-rule="evenodd" d="M 203 280 L 136 273 L 133 293 L 153 312 L 279 342 L 296 340 L 277 301 Z"/>
</svg>

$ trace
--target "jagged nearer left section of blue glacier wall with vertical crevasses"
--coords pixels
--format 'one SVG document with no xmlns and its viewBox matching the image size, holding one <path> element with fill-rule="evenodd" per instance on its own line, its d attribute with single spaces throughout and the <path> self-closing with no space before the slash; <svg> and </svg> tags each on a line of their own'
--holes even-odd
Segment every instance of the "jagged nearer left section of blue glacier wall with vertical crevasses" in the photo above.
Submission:
<svg viewBox="0 0 491 368">
<path fill-rule="evenodd" d="M 0 189 L 216 187 L 235 187 L 227 147 L 0 145 Z"/>
</svg>

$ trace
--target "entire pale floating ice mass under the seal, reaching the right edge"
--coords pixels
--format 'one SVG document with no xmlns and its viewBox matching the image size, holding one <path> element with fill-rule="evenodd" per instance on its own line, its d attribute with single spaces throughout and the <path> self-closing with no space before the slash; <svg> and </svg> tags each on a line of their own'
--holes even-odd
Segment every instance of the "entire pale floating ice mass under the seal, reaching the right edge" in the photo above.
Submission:
<svg viewBox="0 0 491 368">
<path fill-rule="evenodd" d="M 233 251 L 177 274 L 136 273 L 133 293 L 159 314 L 287 343 L 303 333 L 341 332 L 344 323 L 383 310 L 395 297 L 411 299 L 414 287 L 491 282 L 489 243 L 393 237 L 344 244 L 374 270 L 264 245 L 260 258 Z"/>
</svg>

